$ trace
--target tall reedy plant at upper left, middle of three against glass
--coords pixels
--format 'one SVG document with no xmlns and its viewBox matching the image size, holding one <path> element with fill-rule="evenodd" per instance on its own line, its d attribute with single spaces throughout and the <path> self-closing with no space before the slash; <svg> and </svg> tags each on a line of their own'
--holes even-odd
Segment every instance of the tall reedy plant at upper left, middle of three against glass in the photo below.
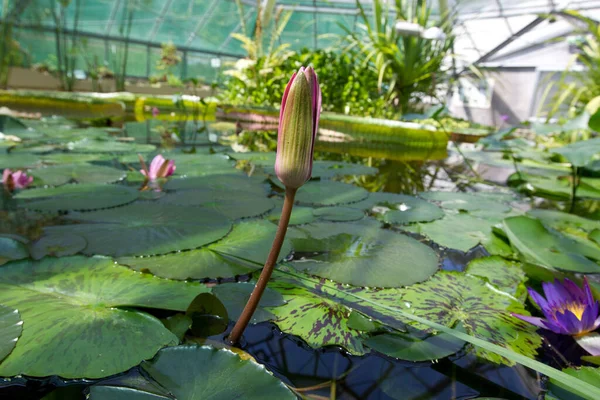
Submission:
<svg viewBox="0 0 600 400">
<path fill-rule="evenodd" d="M 74 14 L 71 34 L 66 31 L 69 25 L 67 8 L 71 0 L 50 0 L 50 15 L 54 21 L 54 40 L 56 45 L 56 73 L 64 90 L 73 91 L 75 85 L 75 69 L 77 68 L 77 53 L 79 48 L 79 13 L 81 0 L 74 1 Z M 70 36 L 70 42 L 69 42 Z"/>
</svg>

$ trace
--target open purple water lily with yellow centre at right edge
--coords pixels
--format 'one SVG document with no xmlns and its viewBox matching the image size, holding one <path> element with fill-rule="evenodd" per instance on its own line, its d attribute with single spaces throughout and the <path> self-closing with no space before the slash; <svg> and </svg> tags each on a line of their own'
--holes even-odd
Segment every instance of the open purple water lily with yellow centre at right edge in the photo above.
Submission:
<svg viewBox="0 0 600 400">
<path fill-rule="evenodd" d="M 514 313 L 512 316 L 562 335 L 579 336 L 600 326 L 598 301 L 592 295 L 587 278 L 583 280 L 583 288 L 569 279 L 544 282 L 542 288 L 545 298 L 531 288 L 527 290 L 546 319 Z"/>
</svg>

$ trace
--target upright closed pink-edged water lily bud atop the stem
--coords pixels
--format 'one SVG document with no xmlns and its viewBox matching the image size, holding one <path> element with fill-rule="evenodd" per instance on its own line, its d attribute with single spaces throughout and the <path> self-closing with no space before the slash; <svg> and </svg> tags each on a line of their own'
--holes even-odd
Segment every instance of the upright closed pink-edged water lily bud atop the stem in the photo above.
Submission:
<svg viewBox="0 0 600 400">
<path fill-rule="evenodd" d="M 301 67 L 285 88 L 279 112 L 275 174 L 287 188 L 297 189 L 310 179 L 320 113 L 317 74 Z"/>
</svg>

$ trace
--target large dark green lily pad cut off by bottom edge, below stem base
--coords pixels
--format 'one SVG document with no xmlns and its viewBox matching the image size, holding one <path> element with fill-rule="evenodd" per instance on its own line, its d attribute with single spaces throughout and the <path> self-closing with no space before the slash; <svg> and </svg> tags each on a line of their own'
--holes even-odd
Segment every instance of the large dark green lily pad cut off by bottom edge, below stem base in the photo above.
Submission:
<svg viewBox="0 0 600 400">
<path fill-rule="evenodd" d="M 296 399 L 292 391 L 264 366 L 252 360 L 242 360 L 230 350 L 208 346 L 169 347 L 161 350 L 152 361 L 144 362 L 142 368 L 177 400 Z M 90 394 L 91 400 L 170 398 L 141 389 L 116 386 L 93 386 Z"/>
</svg>

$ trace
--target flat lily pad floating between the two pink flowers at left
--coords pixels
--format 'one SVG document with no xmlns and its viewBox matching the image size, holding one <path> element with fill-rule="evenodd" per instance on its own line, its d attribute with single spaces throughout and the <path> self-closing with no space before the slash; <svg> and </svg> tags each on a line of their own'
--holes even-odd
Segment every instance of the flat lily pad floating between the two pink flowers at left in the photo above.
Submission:
<svg viewBox="0 0 600 400">
<path fill-rule="evenodd" d="M 103 165 L 71 164 L 37 168 L 31 171 L 31 175 L 44 185 L 58 186 L 68 182 L 113 183 L 124 179 L 127 173 Z"/>
</svg>

